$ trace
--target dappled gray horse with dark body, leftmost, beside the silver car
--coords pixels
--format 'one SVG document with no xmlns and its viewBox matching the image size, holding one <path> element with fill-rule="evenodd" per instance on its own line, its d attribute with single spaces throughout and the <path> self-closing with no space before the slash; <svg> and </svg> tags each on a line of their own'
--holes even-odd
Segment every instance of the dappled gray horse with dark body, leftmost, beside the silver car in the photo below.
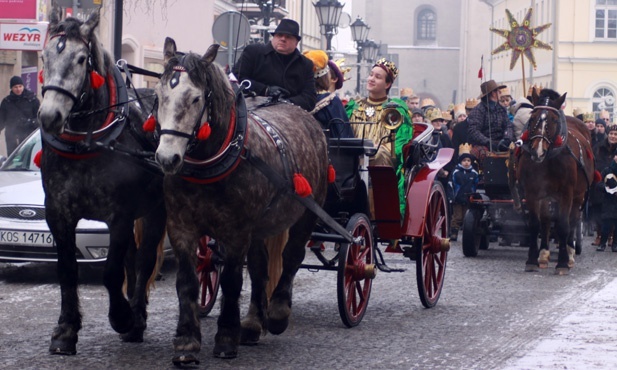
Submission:
<svg viewBox="0 0 617 370">
<path fill-rule="evenodd" d="M 128 103 L 122 76 L 95 35 L 98 12 L 85 23 L 75 18 L 61 22 L 60 14 L 58 7 L 52 9 L 49 40 L 43 50 L 40 164 L 47 224 L 58 249 L 62 297 L 49 350 L 75 354 L 82 319 L 75 256 L 77 222 L 100 220 L 109 227 L 104 271 L 109 322 L 123 334 L 123 340 L 140 342 L 146 328 L 146 284 L 166 214 L 163 177 L 156 167 L 145 167 L 133 155 L 147 150 L 154 153 L 152 135 L 148 137 L 141 129 L 152 110 L 153 92 L 142 91 L 140 105 Z M 133 221 L 140 217 L 144 235 L 136 252 Z M 125 267 L 130 303 L 122 292 Z"/>
</svg>

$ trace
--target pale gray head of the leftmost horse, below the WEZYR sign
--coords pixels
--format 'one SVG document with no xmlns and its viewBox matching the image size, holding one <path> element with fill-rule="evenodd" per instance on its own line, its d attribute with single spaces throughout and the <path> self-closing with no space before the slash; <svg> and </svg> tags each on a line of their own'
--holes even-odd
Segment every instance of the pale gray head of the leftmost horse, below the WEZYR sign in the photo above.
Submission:
<svg viewBox="0 0 617 370">
<path fill-rule="evenodd" d="M 76 18 L 60 21 L 60 15 L 60 8 L 54 6 L 49 14 L 49 39 L 39 76 L 43 101 L 38 117 L 42 129 L 51 134 L 64 132 L 72 113 L 106 98 L 106 89 L 95 90 L 105 82 L 105 61 L 111 63 L 94 32 L 99 12 L 93 12 L 86 22 Z"/>
</svg>

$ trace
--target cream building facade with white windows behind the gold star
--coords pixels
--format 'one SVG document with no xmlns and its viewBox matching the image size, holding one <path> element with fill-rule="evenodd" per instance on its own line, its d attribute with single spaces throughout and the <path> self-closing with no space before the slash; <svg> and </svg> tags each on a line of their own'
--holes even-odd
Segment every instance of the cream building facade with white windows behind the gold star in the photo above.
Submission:
<svg viewBox="0 0 617 370">
<path fill-rule="evenodd" d="M 486 30 L 488 40 L 482 47 L 484 55 L 505 39 L 488 31 L 493 26 L 510 29 L 506 9 L 521 22 L 532 8 L 532 27 L 550 23 L 538 39 L 553 50 L 534 49 L 537 67 L 525 59 L 525 86 L 552 88 L 567 93 L 566 113 L 574 108 L 586 112 L 602 109 L 615 119 L 617 106 L 617 2 L 612 0 L 485 0 L 491 22 L 476 17 Z M 474 40 L 467 40 L 473 44 Z M 511 51 L 491 56 L 485 65 L 490 78 L 510 86 L 513 96 L 525 96 L 523 69 L 519 60 L 510 70 Z M 488 62 L 488 63 L 486 63 Z"/>
</svg>

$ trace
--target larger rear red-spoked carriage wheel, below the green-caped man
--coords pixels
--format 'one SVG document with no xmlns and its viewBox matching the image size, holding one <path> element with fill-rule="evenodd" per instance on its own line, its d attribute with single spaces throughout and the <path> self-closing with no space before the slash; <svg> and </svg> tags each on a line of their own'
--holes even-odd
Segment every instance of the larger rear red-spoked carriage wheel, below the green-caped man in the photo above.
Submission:
<svg viewBox="0 0 617 370">
<path fill-rule="evenodd" d="M 437 304 L 446 272 L 450 244 L 448 237 L 448 204 L 439 181 L 433 183 L 428 199 L 423 236 L 414 239 L 416 250 L 416 280 L 422 305 Z"/>
</svg>

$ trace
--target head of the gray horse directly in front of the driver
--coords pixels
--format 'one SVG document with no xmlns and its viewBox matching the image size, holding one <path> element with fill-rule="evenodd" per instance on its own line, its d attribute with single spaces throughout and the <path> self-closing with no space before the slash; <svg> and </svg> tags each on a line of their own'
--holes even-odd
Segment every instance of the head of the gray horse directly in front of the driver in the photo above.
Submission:
<svg viewBox="0 0 617 370">
<path fill-rule="evenodd" d="M 214 155 L 227 136 L 233 91 L 225 72 L 214 63 L 219 45 L 203 56 L 178 53 L 165 39 L 165 71 L 155 91 L 158 97 L 159 146 L 156 161 L 166 174 L 176 174 L 185 155 Z"/>
</svg>

